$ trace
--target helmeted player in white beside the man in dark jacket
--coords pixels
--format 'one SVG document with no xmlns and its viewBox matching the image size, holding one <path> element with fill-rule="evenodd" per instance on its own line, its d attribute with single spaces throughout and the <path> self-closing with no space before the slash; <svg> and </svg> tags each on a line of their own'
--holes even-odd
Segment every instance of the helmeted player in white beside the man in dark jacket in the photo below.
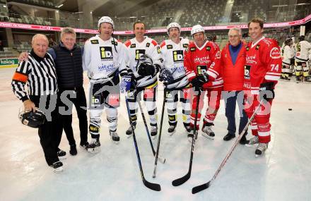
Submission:
<svg viewBox="0 0 311 201">
<path fill-rule="evenodd" d="M 91 37 L 84 46 L 83 68 L 90 79 L 89 107 L 91 135 L 88 152 L 98 152 L 102 110 L 106 110 L 109 133 L 114 142 L 117 135 L 117 107 L 119 106 L 119 74 L 127 72 L 124 44 L 112 37 L 114 23 L 110 17 L 98 20 L 100 35 Z"/>
</svg>

